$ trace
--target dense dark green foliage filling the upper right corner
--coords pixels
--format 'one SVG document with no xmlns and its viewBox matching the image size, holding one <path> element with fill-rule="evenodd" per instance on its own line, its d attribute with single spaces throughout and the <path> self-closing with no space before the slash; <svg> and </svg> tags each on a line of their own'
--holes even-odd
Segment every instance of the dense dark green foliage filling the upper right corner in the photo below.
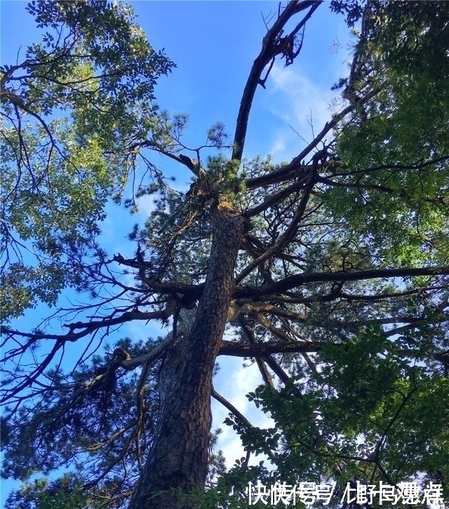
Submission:
<svg viewBox="0 0 449 509">
<path fill-rule="evenodd" d="M 337 133 L 341 171 L 323 199 L 369 231 L 385 265 L 448 262 L 448 4 L 370 4 L 356 93 L 377 91 Z"/>
</svg>

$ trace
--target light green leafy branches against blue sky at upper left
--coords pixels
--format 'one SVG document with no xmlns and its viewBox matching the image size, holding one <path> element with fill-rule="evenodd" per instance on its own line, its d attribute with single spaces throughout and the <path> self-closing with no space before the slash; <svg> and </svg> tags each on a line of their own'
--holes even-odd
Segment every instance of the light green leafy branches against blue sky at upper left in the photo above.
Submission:
<svg viewBox="0 0 449 509">
<path fill-rule="evenodd" d="M 133 170 L 133 146 L 161 137 L 154 86 L 173 67 L 129 6 L 27 9 L 43 39 L 1 67 L 3 319 L 83 287 L 83 259 L 98 251 L 98 225 Z"/>
</svg>

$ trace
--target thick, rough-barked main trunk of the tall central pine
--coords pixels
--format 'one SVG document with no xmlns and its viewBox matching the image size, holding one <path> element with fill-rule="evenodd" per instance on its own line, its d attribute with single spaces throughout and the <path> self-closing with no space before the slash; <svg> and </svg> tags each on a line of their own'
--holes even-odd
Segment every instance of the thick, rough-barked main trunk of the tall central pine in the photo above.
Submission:
<svg viewBox="0 0 449 509">
<path fill-rule="evenodd" d="M 245 218 L 226 206 L 218 206 L 211 219 L 213 242 L 203 293 L 192 326 L 163 360 L 159 425 L 130 509 L 173 509 L 178 501 L 173 490 L 187 493 L 206 481 L 213 367 L 247 226 Z M 180 507 L 194 505 L 188 501 Z"/>
</svg>

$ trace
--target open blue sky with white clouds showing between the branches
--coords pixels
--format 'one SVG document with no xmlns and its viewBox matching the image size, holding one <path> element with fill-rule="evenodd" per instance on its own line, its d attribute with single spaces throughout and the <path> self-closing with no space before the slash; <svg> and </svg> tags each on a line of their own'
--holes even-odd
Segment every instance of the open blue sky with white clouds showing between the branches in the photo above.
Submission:
<svg viewBox="0 0 449 509">
<path fill-rule="evenodd" d="M 192 148 L 202 145 L 206 131 L 216 121 L 225 124 L 233 136 L 241 93 L 253 60 L 260 51 L 267 22 L 275 16 L 278 4 L 272 1 L 135 1 L 131 2 L 139 24 L 156 50 L 177 63 L 168 77 L 156 88 L 157 103 L 172 113 L 188 113 L 189 126 L 184 138 Z M 3 0 L 1 14 L 1 63 L 22 60 L 25 48 L 39 40 L 39 31 L 25 11 L 23 1 Z M 274 18 L 275 19 L 275 18 Z M 277 63 L 267 81 L 267 90 L 258 89 L 250 116 L 246 141 L 246 157 L 270 153 L 275 161 L 288 161 L 300 152 L 305 140 L 312 138 L 312 125 L 319 132 L 330 119 L 335 92 L 330 87 L 348 72 L 349 29 L 341 16 L 330 12 L 329 4 L 321 5 L 307 25 L 300 57 L 290 67 Z M 299 135 L 298 135 L 299 134 Z M 173 161 L 153 156 L 152 160 L 170 176 L 188 180 L 183 168 Z M 130 226 L 145 220 L 151 210 L 150 200 L 142 201 L 140 213 L 130 218 L 118 206 L 109 206 L 102 225 L 102 239 L 109 254 L 124 256 L 135 250 L 126 242 Z M 117 231 L 116 225 L 121 228 Z M 129 225 L 129 227 L 127 226 Z M 22 329 L 30 329 L 36 319 L 48 314 L 39 308 L 20 320 Z M 117 337 L 147 338 L 157 329 L 145 324 L 123 326 Z M 112 340 L 111 340 L 112 342 Z M 254 423 L 262 423 L 249 406 L 245 394 L 259 378 L 255 369 L 241 369 L 241 359 L 219 359 L 221 370 L 215 388 L 231 400 Z M 233 380 L 229 384 L 229 380 Z M 216 428 L 227 411 L 214 406 Z M 229 464 L 241 453 L 229 428 L 223 428 L 220 447 Z M 2 482 L 1 503 L 9 482 Z"/>
</svg>

